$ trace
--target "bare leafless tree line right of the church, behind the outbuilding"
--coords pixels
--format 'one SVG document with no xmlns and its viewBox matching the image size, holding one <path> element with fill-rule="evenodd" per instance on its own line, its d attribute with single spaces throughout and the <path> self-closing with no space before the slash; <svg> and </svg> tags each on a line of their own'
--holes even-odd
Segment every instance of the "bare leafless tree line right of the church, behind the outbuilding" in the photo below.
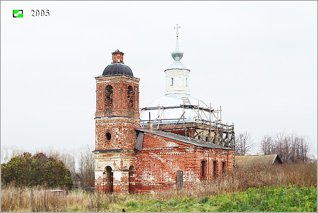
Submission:
<svg viewBox="0 0 318 213">
<path fill-rule="evenodd" d="M 256 144 L 248 131 L 235 135 L 236 155 L 249 155 Z M 259 152 L 263 155 L 278 154 L 284 163 L 306 162 L 313 158 L 310 154 L 309 140 L 296 133 L 285 134 L 278 132 L 275 135 L 264 135 L 259 142 Z"/>
</svg>

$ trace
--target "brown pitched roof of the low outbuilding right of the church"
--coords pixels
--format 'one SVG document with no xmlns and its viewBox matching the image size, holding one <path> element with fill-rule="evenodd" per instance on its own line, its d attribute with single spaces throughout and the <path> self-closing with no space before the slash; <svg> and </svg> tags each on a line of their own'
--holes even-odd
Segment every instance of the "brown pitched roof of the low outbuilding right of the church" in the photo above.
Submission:
<svg viewBox="0 0 318 213">
<path fill-rule="evenodd" d="M 242 155 L 235 156 L 235 163 L 238 166 L 250 166 L 257 163 L 273 164 L 277 158 L 279 163 L 282 163 L 277 154 L 272 155 Z"/>
</svg>

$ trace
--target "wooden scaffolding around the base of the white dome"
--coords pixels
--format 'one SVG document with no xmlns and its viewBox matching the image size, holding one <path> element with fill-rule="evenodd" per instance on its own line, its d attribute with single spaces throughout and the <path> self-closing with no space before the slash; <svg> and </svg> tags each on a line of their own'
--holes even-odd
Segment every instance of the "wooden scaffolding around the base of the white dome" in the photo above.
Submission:
<svg viewBox="0 0 318 213">
<path fill-rule="evenodd" d="M 182 107 L 182 110 L 181 110 Z M 166 110 L 179 108 L 179 116 L 164 118 Z M 151 119 L 150 110 L 158 110 L 158 116 Z M 192 111 L 196 114 L 192 120 L 185 117 L 186 111 Z M 211 107 L 200 107 L 198 105 L 191 105 L 187 97 L 182 97 L 182 105 L 180 106 L 158 106 L 145 107 L 140 109 L 141 113 L 149 111 L 149 119 L 141 120 L 141 127 L 145 128 L 148 122 L 152 122 L 157 130 L 173 132 L 192 137 L 195 139 L 211 142 L 221 146 L 235 148 L 235 131 L 234 123 L 222 122 L 222 108 L 218 107 L 216 110 Z M 146 123 L 145 123 L 146 122 Z"/>
</svg>

